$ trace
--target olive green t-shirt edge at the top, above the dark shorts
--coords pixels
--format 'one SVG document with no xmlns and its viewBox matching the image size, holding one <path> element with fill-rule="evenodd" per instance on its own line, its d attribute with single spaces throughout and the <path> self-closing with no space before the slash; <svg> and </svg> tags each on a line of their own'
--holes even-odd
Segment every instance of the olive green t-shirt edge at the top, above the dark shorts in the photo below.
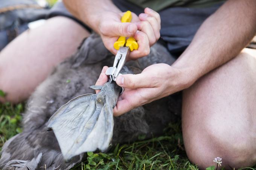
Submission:
<svg viewBox="0 0 256 170">
<path fill-rule="evenodd" d="M 171 6 L 184 7 L 210 7 L 216 3 L 224 2 L 225 0 L 128 0 L 140 7 L 149 7 L 155 11 L 162 10 Z"/>
</svg>

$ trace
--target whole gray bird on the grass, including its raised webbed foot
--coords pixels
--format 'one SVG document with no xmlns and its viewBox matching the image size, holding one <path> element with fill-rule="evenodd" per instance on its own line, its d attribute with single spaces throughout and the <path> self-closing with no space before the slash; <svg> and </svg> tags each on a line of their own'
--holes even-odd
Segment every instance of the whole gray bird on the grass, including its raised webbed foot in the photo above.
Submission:
<svg viewBox="0 0 256 170">
<path fill-rule="evenodd" d="M 113 61 L 113 54 L 108 52 L 97 34 L 92 34 L 85 39 L 78 51 L 66 61 L 59 64 L 52 75 L 40 84 L 29 98 L 22 122 L 24 130 L 22 133 L 9 139 L 3 146 L 0 158 L 0 169 L 35 170 L 40 169 L 40 167 L 46 167 L 47 170 L 67 170 L 72 168 L 76 163 L 81 162 L 84 158 L 84 153 L 78 152 L 75 154 L 77 156 L 69 157 L 73 157 L 71 160 L 64 161 L 59 143 L 63 142 L 63 140 L 73 140 L 70 139 L 70 132 L 75 132 L 78 134 L 77 136 L 79 136 L 76 140 L 82 141 L 78 142 L 81 145 L 75 146 L 75 148 L 70 147 L 66 150 L 73 151 L 73 149 L 77 149 L 76 147 L 87 147 L 86 140 L 88 140 L 88 131 L 81 129 L 81 127 L 85 127 L 85 122 L 82 122 L 82 120 L 88 119 L 90 114 L 97 110 L 94 104 L 92 106 L 95 107 L 86 107 L 88 101 L 89 103 L 95 103 L 97 100 L 97 96 L 91 94 L 94 90 L 88 89 L 87 87 L 95 84 L 102 67 L 111 66 Z M 147 57 L 140 58 L 137 61 L 129 61 L 126 65 L 130 67 L 134 73 L 140 73 L 141 70 L 149 65 L 156 63 L 172 64 L 173 62 L 174 58 L 169 52 L 162 45 L 157 43 L 151 47 L 151 52 Z M 99 149 L 105 150 L 110 141 L 114 145 L 116 143 L 132 142 L 137 140 L 140 135 L 145 135 L 146 138 L 151 137 L 152 134 L 154 136 L 160 135 L 163 133 L 163 128 L 165 128 L 169 122 L 175 121 L 175 114 L 180 113 L 180 98 L 177 100 L 177 97 L 171 95 L 150 104 L 137 107 L 113 119 L 113 107 L 116 104 L 116 99 L 113 98 L 114 93 L 110 89 L 120 91 L 119 86 L 110 85 L 108 82 L 102 87 L 99 93 L 100 96 L 104 96 L 101 109 L 105 108 L 103 112 L 107 112 L 108 117 L 102 116 L 99 118 L 102 111 L 97 110 L 98 117 L 91 119 L 91 126 L 86 125 L 89 129 L 90 127 L 97 127 L 98 129 L 96 131 L 102 130 L 106 132 L 105 138 L 100 136 L 103 140 L 97 140 L 97 138 L 95 138 L 96 136 L 90 139 L 89 142 L 93 142 L 92 145 L 90 145 L 94 146 L 94 148 L 102 146 L 103 148 Z M 73 107 L 69 104 L 64 105 L 70 99 L 77 96 L 80 96 L 78 97 L 79 100 L 81 98 L 81 100 L 86 101 L 86 103 L 76 103 L 76 106 L 81 104 L 79 107 Z M 84 98 L 86 99 L 84 100 Z M 104 107 L 104 105 L 111 107 Z M 62 129 L 61 140 L 57 141 L 53 131 L 47 131 L 47 128 L 60 128 L 61 126 L 56 122 L 50 125 L 48 121 L 59 108 L 56 113 L 68 107 L 69 109 L 71 108 L 71 110 L 80 108 L 80 111 L 81 108 L 85 108 L 85 111 L 83 110 L 81 114 L 79 112 L 78 115 L 71 114 L 70 116 L 64 116 L 67 122 L 63 122 L 65 126 L 63 126 L 64 129 Z M 75 116 L 79 116 L 79 118 L 84 116 L 84 118 L 80 119 L 81 121 L 79 122 Z M 53 120 L 52 122 L 54 122 L 54 120 L 59 120 L 61 117 L 58 118 L 58 114 L 55 114 L 51 119 Z M 111 122 L 111 119 L 113 119 L 113 122 Z M 114 126 L 112 128 L 113 133 L 109 132 L 111 126 Z M 99 134 L 102 135 L 103 133 Z M 107 145 L 104 145 L 105 141 L 107 141 Z"/>
</svg>

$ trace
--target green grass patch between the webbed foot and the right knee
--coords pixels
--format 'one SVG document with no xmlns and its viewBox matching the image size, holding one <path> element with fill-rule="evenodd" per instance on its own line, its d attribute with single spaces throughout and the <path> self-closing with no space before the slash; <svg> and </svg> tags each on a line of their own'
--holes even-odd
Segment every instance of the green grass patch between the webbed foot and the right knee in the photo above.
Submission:
<svg viewBox="0 0 256 170">
<path fill-rule="evenodd" d="M 108 154 L 87 153 L 87 161 L 75 169 L 183 169 L 196 170 L 184 152 L 180 125 L 169 125 L 165 136 L 116 145 Z M 143 137 L 140 137 L 141 139 Z"/>
</svg>

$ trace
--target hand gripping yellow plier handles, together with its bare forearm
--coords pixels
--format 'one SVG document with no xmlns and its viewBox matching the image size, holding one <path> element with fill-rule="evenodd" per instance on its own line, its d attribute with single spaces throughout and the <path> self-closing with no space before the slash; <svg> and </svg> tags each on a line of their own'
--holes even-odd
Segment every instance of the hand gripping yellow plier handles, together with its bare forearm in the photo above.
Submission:
<svg viewBox="0 0 256 170">
<path fill-rule="evenodd" d="M 86 25 L 99 33 L 106 48 L 113 54 L 114 42 L 119 36 L 133 36 L 139 48 L 130 53 L 128 60 L 136 60 L 149 54 L 152 46 L 160 38 L 160 15 L 145 8 L 139 16 L 132 13 L 131 23 L 122 23 L 124 13 L 111 0 L 63 0 L 67 9 Z"/>
</svg>

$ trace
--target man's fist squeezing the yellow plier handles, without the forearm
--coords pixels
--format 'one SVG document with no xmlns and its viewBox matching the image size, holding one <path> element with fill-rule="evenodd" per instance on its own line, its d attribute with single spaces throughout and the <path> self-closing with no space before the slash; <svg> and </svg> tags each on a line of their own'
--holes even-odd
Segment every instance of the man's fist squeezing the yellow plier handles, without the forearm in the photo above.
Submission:
<svg viewBox="0 0 256 170">
<path fill-rule="evenodd" d="M 105 12 L 101 16 L 98 25 L 98 33 L 101 35 L 105 47 L 113 54 L 117 53 L 114 49 L 114 42 L 119 36 L 133 36 L 139 48 L 128 56 L 128 60 L 135 60 L 149 54 L 152 46 L 160 38 L 160 15 L 152 9 L 145 8 L 145 13 L 139 16 L 132 13 L 131 22 L 122 23 L 120 18 L 123 13 Z"/>
</svg>

